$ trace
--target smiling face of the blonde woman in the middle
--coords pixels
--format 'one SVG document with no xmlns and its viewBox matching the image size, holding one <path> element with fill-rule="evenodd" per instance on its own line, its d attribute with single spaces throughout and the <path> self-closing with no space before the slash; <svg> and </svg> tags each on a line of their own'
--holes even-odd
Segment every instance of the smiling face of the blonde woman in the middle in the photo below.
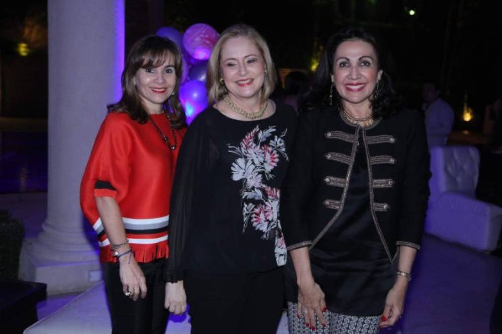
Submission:
<svg viewBox="0 0 502 334">
<path fill-rule="evenodd" d="M 228 94 L 234 99 L 260 97 L 265 80 L 265 62 L 252 39 L 233 37 L 223 44 L 220 72 Z"/>
</svg>

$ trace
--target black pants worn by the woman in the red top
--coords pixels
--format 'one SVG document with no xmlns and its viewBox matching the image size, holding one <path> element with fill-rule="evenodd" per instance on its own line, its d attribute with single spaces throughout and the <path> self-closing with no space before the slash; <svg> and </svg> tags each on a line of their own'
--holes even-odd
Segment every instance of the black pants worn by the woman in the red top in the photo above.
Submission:
<svg viewBox="0 0 502 334">
<path fill-rule="evenodd" d="M 103 264 L 103 278 L 110 309 L 113 334 L 164 334 L 166 331 L 168 311 L 164 308 L 166 283 L 162 273 L 165 259 L 149 263 L 139 263 L 147 284 L 145 299 L 124 295 L 119 275 L 118 263 Z"/>
</svg>

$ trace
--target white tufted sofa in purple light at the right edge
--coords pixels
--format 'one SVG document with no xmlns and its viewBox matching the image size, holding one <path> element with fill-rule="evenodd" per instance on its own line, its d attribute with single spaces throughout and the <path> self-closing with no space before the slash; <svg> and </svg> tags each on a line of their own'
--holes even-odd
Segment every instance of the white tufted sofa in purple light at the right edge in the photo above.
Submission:
<svg viewBox="0 0 502 334">
<path fill-rule="evenodd" d="M 431 196 L 425 232 L 476 250 L 492 251 L 500 236 L 502 208 L 474 198 L 478 150 L 473 146 L 436 146 L 430 153 Z"/>
</svg>

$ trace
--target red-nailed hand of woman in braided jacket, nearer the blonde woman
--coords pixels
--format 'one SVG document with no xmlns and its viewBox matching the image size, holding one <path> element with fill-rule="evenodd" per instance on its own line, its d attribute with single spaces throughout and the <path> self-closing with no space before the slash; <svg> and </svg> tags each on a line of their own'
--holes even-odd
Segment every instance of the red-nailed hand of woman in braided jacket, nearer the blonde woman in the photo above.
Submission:
<svg viewBox="0 0 502 334">
<path fill-rule="evenodd" d="M 306 311 L 306 314 L 304 313 Z M 322 325 L 326 325 L 324 314 L 327 310 L 326 302 L 324 301 L 324 292 L 321 287 L 313 279 L 302 280 L 298 286 L 298 312 L 305 315 L 305 325 L 312 329 L 317 323 L 315 316 L 319 318 Z M 301 317 L 301 314 L 298 314 Z"/>
</svg>

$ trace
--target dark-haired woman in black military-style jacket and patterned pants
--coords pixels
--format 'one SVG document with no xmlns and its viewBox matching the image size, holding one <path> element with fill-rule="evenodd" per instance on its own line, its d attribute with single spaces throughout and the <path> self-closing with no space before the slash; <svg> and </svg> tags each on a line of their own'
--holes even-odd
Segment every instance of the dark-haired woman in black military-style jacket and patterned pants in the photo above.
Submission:
<svg viewBox="0 0 502 334">
<path fill-rule="evenodd" d="M 403 312 L 429 153 L 421 116 L 400 109 L 389 59 L 374 35 L 343 29 L 301 103 L 281 199 L 291 333 L 375 333 Z"/>
</svg>

